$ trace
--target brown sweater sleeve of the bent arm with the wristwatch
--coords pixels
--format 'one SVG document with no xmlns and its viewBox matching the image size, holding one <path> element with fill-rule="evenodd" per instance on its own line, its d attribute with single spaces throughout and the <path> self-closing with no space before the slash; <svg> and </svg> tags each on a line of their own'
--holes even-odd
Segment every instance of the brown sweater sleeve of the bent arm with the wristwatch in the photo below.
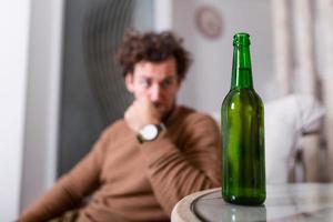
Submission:
<svg viewBox="0 0 333 222">
<path fill-rule="evenodd" d="M 168 131 L 141 145 L 153 192 L 169 215 L 183 196 L 221 185 L 221 140 L 216 123 L 200 115 L 188 125 L 188 132 L 181 132 L 182 149 L 172 142 Z"/>
</svg>

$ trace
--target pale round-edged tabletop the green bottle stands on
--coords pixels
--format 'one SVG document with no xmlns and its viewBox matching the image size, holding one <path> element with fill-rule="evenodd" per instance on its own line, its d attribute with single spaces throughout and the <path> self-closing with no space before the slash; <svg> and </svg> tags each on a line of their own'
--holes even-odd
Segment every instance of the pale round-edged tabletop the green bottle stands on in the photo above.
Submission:
<svg viewBox="0 0 333 222">
<path fill-rule="evenodd" d="M 201 191 L 182 199 L 171 221 L 333 221 L 331 183 L 268 185 L 266 196 L 261 206 L 244 206 L 224 202 L 221 189 Z"/>
</svg>

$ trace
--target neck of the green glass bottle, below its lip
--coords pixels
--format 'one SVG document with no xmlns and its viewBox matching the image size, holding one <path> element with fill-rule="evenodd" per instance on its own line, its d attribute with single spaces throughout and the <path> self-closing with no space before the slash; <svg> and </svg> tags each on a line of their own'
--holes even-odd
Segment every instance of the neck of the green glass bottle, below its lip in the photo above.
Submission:
<svg viewBox="0 0 333 222">
<path fill-rule="evenodd" d="M 253 89 L 250 44 L 234 44 L 231 90 Z"/>
</svg>

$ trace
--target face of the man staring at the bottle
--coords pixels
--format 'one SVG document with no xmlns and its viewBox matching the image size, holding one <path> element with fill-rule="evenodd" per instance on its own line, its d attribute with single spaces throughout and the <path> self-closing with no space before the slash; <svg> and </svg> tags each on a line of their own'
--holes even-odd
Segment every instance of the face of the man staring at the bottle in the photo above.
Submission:
<svg viewBox="0 0 333 222">
<path fill-rule="evenodd" d="M 164 118 L 173 108 L 180 88 L 175 60 L 141 61 L 134 65 L 133 73 L 125 75 L 125 84 L 135 100 L 147 97 Z"/>
</svg>

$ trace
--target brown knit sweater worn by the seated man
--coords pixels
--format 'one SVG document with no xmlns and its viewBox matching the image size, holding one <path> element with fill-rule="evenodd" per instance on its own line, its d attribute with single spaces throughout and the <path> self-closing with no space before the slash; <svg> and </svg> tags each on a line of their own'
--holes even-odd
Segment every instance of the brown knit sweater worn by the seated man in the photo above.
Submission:
<svg viewBox="0 0 333 222">
<path fill-rule="evenodd" d="M 123 120 L 28 208 L 19 221 L 54 218 L 92 194 L 78 221 L 168 221 L 183 196 L 220 186 L 220 134 L 214 120 L 178 107 L 167 130 L 140 144 Z"/>
</svg>

